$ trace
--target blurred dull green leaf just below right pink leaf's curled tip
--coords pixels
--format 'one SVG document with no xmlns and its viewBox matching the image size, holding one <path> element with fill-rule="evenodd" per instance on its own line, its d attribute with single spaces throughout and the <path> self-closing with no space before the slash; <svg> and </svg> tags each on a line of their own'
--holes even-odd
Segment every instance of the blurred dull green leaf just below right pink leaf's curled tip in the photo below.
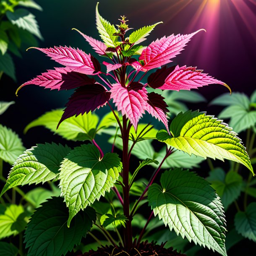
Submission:
<svg viewBox="0 0 256 256">
<path fill-rule="evenodd" d="M 250 105 L 249 98 L 240 92 L 232 92 L 232 94 L 225 93 L 215 98 L 211 105 L 220 105 L 220 106 L 230 106 L 230 105 L 239 105 L 245 109 L 248 109 Z"/>
</svg>

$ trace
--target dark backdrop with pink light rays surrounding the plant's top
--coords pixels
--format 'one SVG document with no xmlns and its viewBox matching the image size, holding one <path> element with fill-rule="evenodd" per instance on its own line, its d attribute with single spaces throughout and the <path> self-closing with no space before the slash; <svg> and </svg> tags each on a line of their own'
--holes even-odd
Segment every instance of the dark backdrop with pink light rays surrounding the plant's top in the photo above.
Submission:
<svg viewBox="0 0 256 256">
<path fill-rule="evenodd" d="M 84 39 L 71 30 L 76 28 L 99 39 L 95 26 L 96 0 L 36 2 L 44 9 L 43 12 L 31 10 L 37 17 L 44 37 L 44 41 L 39 42 L 40 47 L 67 45 L 82 48 L 86 53 L 91 52 L 96 56 Z M 204 69 L 205 73 L 227 83 L 232 91 L 250 95 L 256 89 L 256 0 L 101 0 L 99 12 L 112 24 L 118 24 L 120 15 L 125 15 L 129 19 L 130 27 L 135 29 L 163 21 L 164 24 L 159 24 L 154 29 L 144 45 L 164 35 L 187 34 L 204 28 L 207 32 L 197 34 L 175 58 L 173 64 Z M 18 86 L 46 69 L 58 66 L 42 52 L 34 49 L 24 51 L 22 55 L 22 59 L 14 58 L 17 83 L 5 75 L 0 81 L 0 100 L 16 102 L 0 116 L 0 123 L 16 131 L 26 148 L 45 141 L 66 143 L 45 128 L 33 128 L 26 135 L 23 134 L 25 126 L 44 112 L 64 107 L 71 91 L 49 91 L 37 86 L 26 86 L 16 97 Z M 199 92 L 210 102 L 214 97 L 227 92 L 227 89 L 224 86 L 211 85 L 201 88 Z M 216 116 L 220 110 L 209 107 L 207 103 L 190 107 Z M 245 141 L 245 134 L 240 134 L 240 137 Z M 71 147 L 77 145 L 72 141 L 68 144 Z M 5 167 L 7 176 L 9 167 Z M 207 172 L 208 169 L 205 173 Z M 248 240 L 243 241 L 243 248 L 249 253 L 246 243 Z M 239 247 L 242 247 L 241 243 L 234 248 L 233 253 Z M 206 252 L 214 255 L 210 251 Z"/>
</svg>

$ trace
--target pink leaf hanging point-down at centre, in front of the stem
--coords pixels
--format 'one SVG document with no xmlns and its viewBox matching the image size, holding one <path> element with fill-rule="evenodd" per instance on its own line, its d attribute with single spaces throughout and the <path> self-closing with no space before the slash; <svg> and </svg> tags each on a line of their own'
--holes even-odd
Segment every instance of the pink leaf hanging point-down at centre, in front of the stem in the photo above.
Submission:
<svg viewBox="0 0 256 256">
<path fill-rule="evenodd" d="M 132 83 L 131 86 L 123 87 L 120 84 L 113 84 L 111 98 L 118 108 L 137 128 L 138 120 L 145 113 L 147 106 L 146 88 L 139 83 Z"/>
</svg>

